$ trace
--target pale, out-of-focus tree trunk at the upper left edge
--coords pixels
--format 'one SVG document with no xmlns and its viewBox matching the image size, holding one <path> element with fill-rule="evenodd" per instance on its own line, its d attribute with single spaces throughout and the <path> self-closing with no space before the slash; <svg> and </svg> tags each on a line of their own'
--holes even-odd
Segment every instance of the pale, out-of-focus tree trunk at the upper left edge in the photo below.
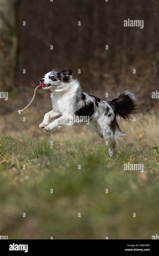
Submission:
<svg viewBox="0 0 159 256">
<path fill-rule="evenodd" d="M 15 85 L 19 0 L 0 0 L 0 87 Z"/>
</svg>

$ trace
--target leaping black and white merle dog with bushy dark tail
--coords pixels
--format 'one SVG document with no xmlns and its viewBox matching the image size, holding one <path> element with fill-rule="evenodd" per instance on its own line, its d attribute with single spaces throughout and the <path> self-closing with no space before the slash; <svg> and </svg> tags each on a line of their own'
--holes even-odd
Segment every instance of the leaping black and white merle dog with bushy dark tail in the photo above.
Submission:
<svg viewBox="0 0 159 256">
<path fill-rule="evenodd" d="M 52 132 L 61 125 L 73 125 L 75 117 L 89 117 L 90 125 L 96 133 L 108 142 L 109 155 L 116 155 L 116 143 L 125 135 L 120 130 L 116 115 L 123 119 L 131 119 L 136 114 L 136 98 L 129 91 L 124 91 L 112 101 L 104 101 L 82 92 L 77 79 L 73 79 L 71 70 L 52 70 L 40 80 L 43 90 L 52 92 L 53 109 L 45 114 L 39 125 Z M 53 122 L 49 123 L 51 119 Z"/>
</svg>

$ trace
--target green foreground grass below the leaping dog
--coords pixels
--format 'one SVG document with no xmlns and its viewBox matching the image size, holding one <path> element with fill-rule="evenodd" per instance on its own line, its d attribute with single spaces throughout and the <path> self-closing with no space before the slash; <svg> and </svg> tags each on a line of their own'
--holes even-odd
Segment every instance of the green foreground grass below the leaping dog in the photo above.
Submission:
<svg viewBox="0 0 159 256">
<path fill-rule="evenodd" d="M 1 141 L 0 235 L 151 239 L 158 233 L 159 155 L 152 147 L 119 144 L 111 159 L 103 143 L 87 138 Z M 125 171 L 127 162 L 144 163 L 144 172 Z"/>
</svg>

